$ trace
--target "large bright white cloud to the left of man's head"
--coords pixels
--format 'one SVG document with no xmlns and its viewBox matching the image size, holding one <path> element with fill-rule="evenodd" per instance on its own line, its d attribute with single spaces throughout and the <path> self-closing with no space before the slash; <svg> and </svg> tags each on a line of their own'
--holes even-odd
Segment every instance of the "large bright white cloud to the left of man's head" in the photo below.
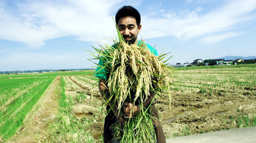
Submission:
<svg viewBox="0 0 256 143">
<path fill-rule="evenodd" d="M 40 47 L 44 40 L 68 35 L 77 35 L 82 41 L 96 41 L 115 30 L 110 12 L 118 1 L 62 2 L 20 3 L 20 15 L 13 15 L 0 4 L 0 38 Z"/>
</svg>

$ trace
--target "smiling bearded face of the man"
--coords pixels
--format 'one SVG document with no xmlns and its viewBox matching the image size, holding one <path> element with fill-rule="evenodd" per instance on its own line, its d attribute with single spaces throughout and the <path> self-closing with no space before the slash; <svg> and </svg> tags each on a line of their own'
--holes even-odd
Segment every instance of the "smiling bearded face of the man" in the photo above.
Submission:
<svg viewBox="0 0 256 143">
<path fill-rule="evenodd" d="M 123 17 L 118 21 L 118 30 L 125 39 L 125 42 L 130 44 L 138 43 L 138 33 L 140 33 L 141 25 L 138 26 L 136 19 L 133 17 Z"/>
</svg>

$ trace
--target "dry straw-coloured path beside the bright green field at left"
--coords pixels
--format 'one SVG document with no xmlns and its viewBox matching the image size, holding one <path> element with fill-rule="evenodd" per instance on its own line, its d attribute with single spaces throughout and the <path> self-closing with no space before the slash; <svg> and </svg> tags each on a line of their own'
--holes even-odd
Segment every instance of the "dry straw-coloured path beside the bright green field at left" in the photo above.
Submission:
<svg viewBox="0 0 256 143">
<path fill-rule="evenodd" d="M 58 96 L 61 91 L 60 76 L 57 76 L 46 89 L 38 103 L 24 120 L 22 128 L 9 142 L 31 143 L 46 141 L 47 127 L 58 111 Z"/>
</svg>

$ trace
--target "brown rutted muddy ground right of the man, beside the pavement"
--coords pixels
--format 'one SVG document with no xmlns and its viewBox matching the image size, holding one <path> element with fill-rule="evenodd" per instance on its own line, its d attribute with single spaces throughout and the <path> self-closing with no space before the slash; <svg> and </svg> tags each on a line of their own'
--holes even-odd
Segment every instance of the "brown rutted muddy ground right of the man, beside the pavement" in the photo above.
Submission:
<svg viewBox="0 0 256 143">
<path fill-rule="evenodd" d="M 239 128 L 241 116 L 255 116 L 256 91 L 234 93 L 172 92 L 171 111 L 166 98 L 157 100 L 166 138 Z M 238 94 L 237 94 L 238 93 Z"/>
</svg>

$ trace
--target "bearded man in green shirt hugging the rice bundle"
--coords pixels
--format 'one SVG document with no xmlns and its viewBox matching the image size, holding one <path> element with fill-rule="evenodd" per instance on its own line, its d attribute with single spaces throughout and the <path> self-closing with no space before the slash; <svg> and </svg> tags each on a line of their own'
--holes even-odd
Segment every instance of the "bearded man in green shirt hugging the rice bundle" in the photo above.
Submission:
<svg viewBox="0 0 256 143">
<path fill-rule="evenodd" d="M 138 33 L 140 33 L 140 30 L 142 28 L 142 25 L 140 24 L 140 13 L 133 7 L 131 6 L 124 6 L 118 10 L 116 13 L 115 17 L 116 24 L 118 26 L 118 30 L 125 39 L 125 42 L 130 44 L 138 44 L 141 41 L 137 39 Z M 157 51 L 151 47 L 150 45 L 147 44 L 148 49 L 155 55 L 157 54 Z M 101 61 L 99 61 L 99 65 L 101 65 Z M 104 98 L 104 100 L 107 100 L 109 98 L 109 93 L 108 93 L 108 85 L 107 85 L 107 79 L 109 78 L 108 76 L 104 75 L 104 69 L 102 71 L 99 71 L 101 68 L 97 67 L 96 72 L 97 74 L 95 76 L 101 78 L 99 80 L 99 91 Z M 99 72 L 98 72 L 99 71 Z M 143 102 L 143 106 L 148 105 L 154 98 L 155 93 L 150 93 L 150 98 L 145 100 Z M 109 106 L 113 105 L 111 101 L 109 101 L 107 110 L 110 109 Z M 119 122 L 119 124 L 125 124 L 125 117 L 130 116 L 130 111 L 132 110 L 132 104 L 130 102 L 125 102 L 123 104 L 123 111 L 125 114 L 119 115 L 119 111 L 116 107 L 112 108 L 112 111 L 108 113 L 108 115 L 105 118 L 105 123 L 104 123 L 104 132 L 103 132 L 103 140 L 104 143 L 109 143 L 113 141 L 113 136 L 112 132 L 109 129 L 111 125 L 113 125 L 116 120 Z M 135 105 L 134 111 L 132 112 L 131 116 L 136 115 L 138 112 L 140 112 L 140 108 L 138 105 Z M 150 106 L 150 111 L 152 112 L 151 115 L 154 117 L 152 120 L 154 127 L 155 127 L 155 133 L 156 133 L 156 138 L 158 143 L 166 143 L 165 137 L 164 137 L 164 132 L 162 130 L 162 126 L 159 122 L 159 115 L 158 111 L 155 108 L 155 105 L 152 104 Z"/>
</svg>

